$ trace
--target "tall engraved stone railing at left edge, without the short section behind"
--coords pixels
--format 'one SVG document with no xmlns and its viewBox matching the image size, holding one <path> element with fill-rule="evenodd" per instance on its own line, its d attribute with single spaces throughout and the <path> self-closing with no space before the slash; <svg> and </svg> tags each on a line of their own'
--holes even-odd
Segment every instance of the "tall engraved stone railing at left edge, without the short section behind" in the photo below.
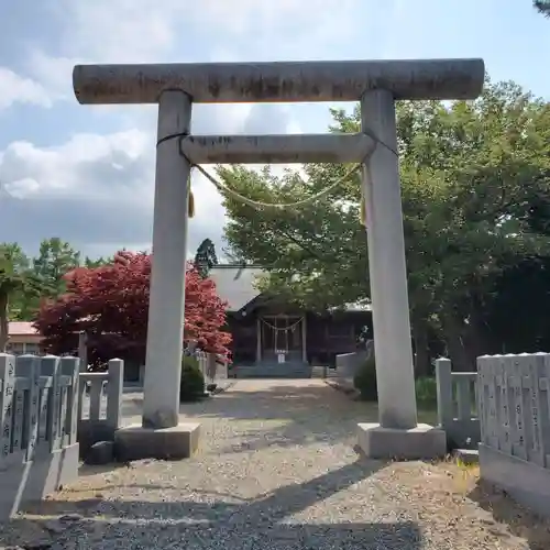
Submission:
<svg viewBox="0 0 550 550">
<path fill-rule="evenodd" d="M 78 475 L 78 363 L 0 353 L 0 520 Z"/>
</svg>

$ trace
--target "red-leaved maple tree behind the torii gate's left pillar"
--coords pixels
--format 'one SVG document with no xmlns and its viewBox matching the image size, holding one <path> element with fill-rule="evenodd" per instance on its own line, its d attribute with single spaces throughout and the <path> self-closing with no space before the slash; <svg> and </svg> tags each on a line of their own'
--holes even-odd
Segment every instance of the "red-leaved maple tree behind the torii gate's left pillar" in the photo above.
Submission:
<svg viewBox="0 0 550 550">
<path fill-rule="evenodd" d="M 151 255 L 119 252 L 114 263 L 78 267 L 65 275 L 67 292 L 45 301 L 34 326 L 48 353 L 74 353 L 78 332 L 88 336 L 90 363 L 119 356 L 143 363 L 148 312 Z M 185 290 L 184 342 L 204 351 L 228 354 L 231 334 L 224 332 L 226 306 L 216 285 L 188 264 Z"/>
</svg>

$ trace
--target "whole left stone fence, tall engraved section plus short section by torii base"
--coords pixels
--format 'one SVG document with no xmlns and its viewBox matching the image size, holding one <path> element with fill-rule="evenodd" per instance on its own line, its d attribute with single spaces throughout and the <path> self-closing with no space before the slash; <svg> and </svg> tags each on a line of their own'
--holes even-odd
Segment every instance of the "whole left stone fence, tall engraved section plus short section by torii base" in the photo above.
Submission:
<svg viewBox="0 0 550 550">
<path fill-rule="evenodd" d="M 74 482 L 82 450 L 112 441 L 124 365 L 79 373 L 78 358 L 0 353 L 0 521 Z"/>
</svg>

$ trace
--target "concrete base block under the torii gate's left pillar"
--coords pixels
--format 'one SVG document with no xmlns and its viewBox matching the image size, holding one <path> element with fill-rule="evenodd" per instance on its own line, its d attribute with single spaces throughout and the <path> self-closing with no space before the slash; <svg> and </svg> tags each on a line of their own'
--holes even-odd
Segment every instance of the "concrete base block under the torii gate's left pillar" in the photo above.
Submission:
<svg viewBox="0 0 550 550">
<path fill-rule="evenodd" d="M 174 428 L 127 426 L 114 432 L 114 452 L 120 461 L 143 459 L 188 459 L 199 447 L 200 424 L 179 424 Z"/>
</svg>

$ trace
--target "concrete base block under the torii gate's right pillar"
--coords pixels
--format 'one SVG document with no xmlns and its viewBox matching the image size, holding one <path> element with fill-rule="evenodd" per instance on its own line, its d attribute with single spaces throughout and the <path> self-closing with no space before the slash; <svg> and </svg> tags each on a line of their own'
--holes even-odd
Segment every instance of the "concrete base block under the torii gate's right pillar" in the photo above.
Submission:
<svg viewBox="0 0 550 550">
<path fill-rule="evenodd" d="M 383 428 L 380 424 L 358 425 L 359 446 L 370 459 L 420 460 L 444 457 L 444 430 L 419 424 L 409 430 Z"/>
</svg>

